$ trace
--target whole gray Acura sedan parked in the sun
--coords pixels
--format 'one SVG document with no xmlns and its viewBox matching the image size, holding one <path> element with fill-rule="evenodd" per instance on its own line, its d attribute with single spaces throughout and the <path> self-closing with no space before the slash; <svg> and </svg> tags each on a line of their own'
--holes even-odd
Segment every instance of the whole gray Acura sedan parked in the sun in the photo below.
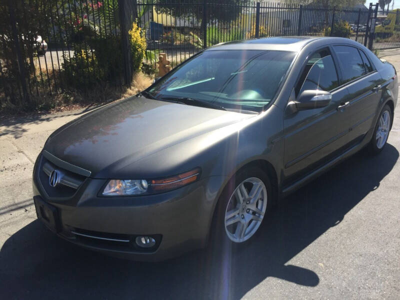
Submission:
<svg viewBox="0 0 400 300">
<path fill-rule="evenodd" d="M 136 260 L 243 247 L 279 198 L 382 150 L 397 92 L 394 67 L 349 39 L 215 45 L 54 131 L 33 170 L 37 217 Z"/>
</svg>

